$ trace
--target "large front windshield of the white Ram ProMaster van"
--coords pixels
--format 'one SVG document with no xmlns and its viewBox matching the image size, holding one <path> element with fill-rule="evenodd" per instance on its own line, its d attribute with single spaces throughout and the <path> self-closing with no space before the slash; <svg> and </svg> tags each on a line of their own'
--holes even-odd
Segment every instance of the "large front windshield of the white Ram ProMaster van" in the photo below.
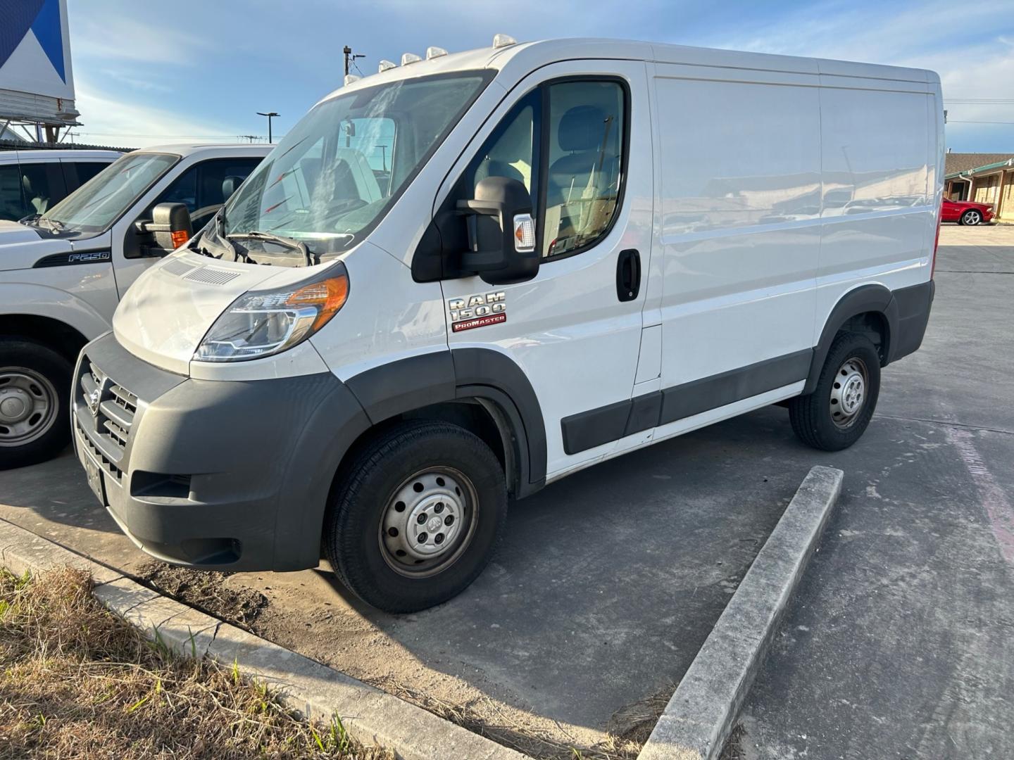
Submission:
<svg viewBox="0 0 1014 760">
<path fill-rule="evenodd" d="M 304 243 L 317 260 L 349 248 L 383 217 L 488 81 L 485 72 L 438 74 L 319 103 L 226 205 L 226 235 L 250 253 L 300 256 L 266 242 L 269 235 Z"/>
</svg>

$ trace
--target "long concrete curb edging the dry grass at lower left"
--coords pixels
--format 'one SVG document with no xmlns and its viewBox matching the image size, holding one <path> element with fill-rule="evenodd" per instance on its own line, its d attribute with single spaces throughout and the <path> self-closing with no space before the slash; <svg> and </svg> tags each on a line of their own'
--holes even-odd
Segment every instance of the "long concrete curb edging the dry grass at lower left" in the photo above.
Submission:
<svg viewBox="0 0 1014 760">
<path fill-rule="evenodd" d="M 385 747 L 404 760 L 525 758 L 422 707 L 162 596 L 6 520 L 0 520 L 0 563 L 17 575 L 66 565 L 88 571 L 95 579 L 95 597 L 151 637 L 157 635 L 186 656 L 207 655 L 229 666 L 236 663 L 244 676 L 277 689 L 286 706 L 325 723 L 338 715 L 355 739 Z"/>
</svg>

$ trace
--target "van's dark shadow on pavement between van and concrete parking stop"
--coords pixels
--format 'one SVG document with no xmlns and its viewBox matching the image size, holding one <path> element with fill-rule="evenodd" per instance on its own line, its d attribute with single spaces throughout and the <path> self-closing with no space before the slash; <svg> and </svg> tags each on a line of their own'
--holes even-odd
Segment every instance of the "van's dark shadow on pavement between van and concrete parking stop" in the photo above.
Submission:
<svg viewBox="0 0 1014 760">
<path fill-rule="evenodd" d="M 410 678 L 421 664 L 601 731 L 678 682 L 815 454 L 770 407 L 591 467 L 511 504 L 483 575 L 421 613 L 378 613 L 327 577 Z"/>
</svg>

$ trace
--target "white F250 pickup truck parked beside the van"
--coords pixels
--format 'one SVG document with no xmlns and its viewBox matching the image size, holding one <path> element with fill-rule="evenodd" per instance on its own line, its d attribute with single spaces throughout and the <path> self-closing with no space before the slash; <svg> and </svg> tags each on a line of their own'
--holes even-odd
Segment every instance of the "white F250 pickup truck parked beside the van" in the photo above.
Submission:
<svg viewBox="0 0 1014 760">
<path fill-rule="evenodd" d="M 0 469 L 49 459 L 67 444 L 81 347 L 110 329 L 131 283 L 207 224 L 270 151 L 134 151 L 44 214 L 0 220 Z"/>
</svg>

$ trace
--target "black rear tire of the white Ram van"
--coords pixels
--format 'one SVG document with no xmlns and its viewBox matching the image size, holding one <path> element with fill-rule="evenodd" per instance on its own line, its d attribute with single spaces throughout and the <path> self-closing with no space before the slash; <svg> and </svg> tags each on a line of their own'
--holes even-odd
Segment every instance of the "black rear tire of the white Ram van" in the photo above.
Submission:
<svg viewBox="0 0 1014 760">
<path fill-rule="evenodd" d="M 852 416 L 832 412 L 832 408 L 846 408 L 848 405 L 846 402 L 838 401 L 838 396 L 844 392 L 839 381 L 843 377 L 851 380 L 857 370 L 865 372 L 863 383 L 854 386 L 853 390 L 853 393 L 859 393 L 861 399 L 859 407 L 854 409 Z M 836 395 L 832 396 L 832 393 Z M 865 335 L 843 332 L 830 345 L 813 392 L 805 396 L 796 396 L 789 401 L 792 430 L 800 441 L 814 449 L 822 451 L 847 449 L 866 431 L 877 407 L 879 395 L 880 357 L 876 348 Z M 852 398 L 854 399 L 855 395 Z M 846 399 L 848 400 L 851 399 Z M 839 415 L 839 422 L 836 423 L 834 414 Z"/>
</svg>

